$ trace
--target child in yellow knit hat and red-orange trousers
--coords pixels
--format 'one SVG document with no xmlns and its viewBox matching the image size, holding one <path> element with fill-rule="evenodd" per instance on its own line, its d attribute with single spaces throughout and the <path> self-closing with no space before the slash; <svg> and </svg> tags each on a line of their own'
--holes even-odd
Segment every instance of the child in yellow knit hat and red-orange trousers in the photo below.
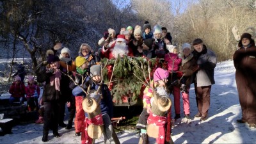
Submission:
<svg viewBox="0 0 256 144">
<path fill-rule="evenodd" d="M 85 81 L 82 81 L 83 79 L 86 78 L 87 75 L 87 68 L 88 68 L 88 61 L 82 57 L 82 56 L 77 56 L 76 58 L 76 73 L 73 73 L 75 83 L 70 84 L 70 88 L 72 88 L 72 94 L 75 97 L 76 101 L 76 117 L 75 117 L 75 129 L 76 129 L 76 136 L 81 136 L 81 127 L 84 123 L 84 111 L 82 107 L 82 102 L 86 94 L 83 92 L 82 88 L 83 85 L 88 79 Z M 77 86 L 80 85 L 80 86 Z"/>
</svg>

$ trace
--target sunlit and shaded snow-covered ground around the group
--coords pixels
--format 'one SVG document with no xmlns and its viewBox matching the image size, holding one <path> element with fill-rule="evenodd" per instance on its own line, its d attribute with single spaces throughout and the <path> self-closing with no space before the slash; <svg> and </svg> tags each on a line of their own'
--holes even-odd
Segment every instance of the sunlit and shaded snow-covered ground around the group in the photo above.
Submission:
<svg viewBox="0 0 256 144">
<path fill-rule="evenodd" d="M 205 122 L 195 118 L 189 124 L 176 122 L 172 136 L 174 143 L 256 143 L 256 129 L 236 122 L 241 118 L 241 108 L 237 96 L 235 71 L 233 61 L 218 63 L 215 70 L 216 84 L 211 90 L 209 118 Z M 193 85 L 189 93 L 193 116 L 197 113 Z M 0 143 L 43 143 L 42 129 L 42 124 L 17 125 L 12 129 L 13 134 L 0 136 Z M 46 143 L 81 143 L 81 137 L 74 135 L 74 129 L 66 130 L 60 127 L 59 132 L 60 138 L 54 138 L 50 132 L 49 141 Z M 118 138 L 121 143 L 139 141 L 135 131 L 118 133 Z M 154 142 L 154 139 L 150 139 L 150 143 Z M 103 143 L 102 138 L 96 143 Z"/>
</svg>

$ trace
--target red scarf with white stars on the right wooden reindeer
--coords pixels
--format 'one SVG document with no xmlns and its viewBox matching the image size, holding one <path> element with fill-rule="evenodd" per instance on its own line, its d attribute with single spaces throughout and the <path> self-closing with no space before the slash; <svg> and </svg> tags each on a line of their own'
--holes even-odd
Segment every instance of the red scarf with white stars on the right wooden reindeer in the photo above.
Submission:
<svg viewBox="0 0 256 144">
<path fill-rule="evenodd" d="M 156 138 L 157 144 L 164 144 L 165 141 L 165 129 L 164 125 L 166 124 L 166 117 L 165 116 L 157 116 L 153 113 L 150 113 L 148 116 L 148 124 L 155 124 L 158 126 L 158 138 Z M 169 130 L 170 131 L 170 130 Z M 169 135 L 170 136 L 170 135 Z M 167 134 L 166 134 L 167 137 Z"/>
</svg>

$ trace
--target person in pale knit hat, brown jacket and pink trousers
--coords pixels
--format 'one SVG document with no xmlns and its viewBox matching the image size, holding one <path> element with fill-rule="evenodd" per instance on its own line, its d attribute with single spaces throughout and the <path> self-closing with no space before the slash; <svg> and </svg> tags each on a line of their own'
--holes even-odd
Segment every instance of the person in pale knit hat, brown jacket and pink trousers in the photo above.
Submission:
<svg viewBox="0 0 256 144">
<path fill-rule="evenodd" d="M 185 75 L 184 75 L 184 78 L 182 79 L 184 80 L 184 87 L 181 87 L 180 90 L 181 90 L 181 95 L 183 100 L 185 118 L 190 119 L 189 88 L 190 88 L 190 84 L 193 81 L 193 74 L 194 74 L 193 69 L 196 68 L 197 64 L 193 54 L 191 54 L 190 44 L 188 43 L 183 44 L 182 52 L 183 53 L 181 56 L 182 61 L 181 61 L 180 71 Z"/>
</svg>

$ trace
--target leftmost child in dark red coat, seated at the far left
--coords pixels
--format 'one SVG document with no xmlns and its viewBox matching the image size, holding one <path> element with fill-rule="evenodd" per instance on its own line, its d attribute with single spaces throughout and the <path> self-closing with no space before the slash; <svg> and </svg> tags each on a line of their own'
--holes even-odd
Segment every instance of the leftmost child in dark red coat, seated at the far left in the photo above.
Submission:
<svg viewBox="0 0 256 144">
<path fill-rule="evenodd" d="M 25 90 L 26 86 L 22 83 L 20 77 L 16 76 L 9 90 L 9 93 L 11 93 L 11 97 L 9 99 L 10 104 L 13 104 L 13 102 L 20 102 L 23 104 Z"/>
</svg>

